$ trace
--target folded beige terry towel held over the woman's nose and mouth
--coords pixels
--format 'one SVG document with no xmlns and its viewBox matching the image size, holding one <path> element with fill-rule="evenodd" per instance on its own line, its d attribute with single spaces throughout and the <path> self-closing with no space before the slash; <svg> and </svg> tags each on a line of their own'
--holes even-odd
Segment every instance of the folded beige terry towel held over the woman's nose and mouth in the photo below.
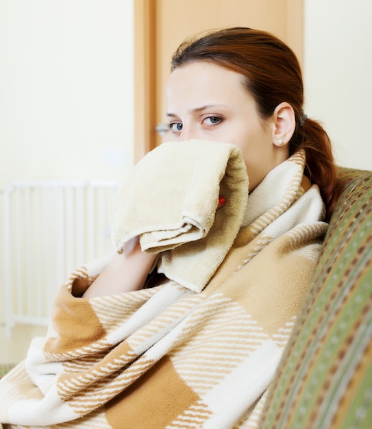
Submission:
<svg viewBox="0 0 372 429">
<path fill-rule="evenodd" d="M 225 205 L 216 210 L 219 197 Z M 243 221 L 248 177 L 240 149 L 202 140 L 169 142 L 142 158 L 121 190 L 112 228 L 116 249 L 140 237 L 161 254 L 158 271 L 200 292 Z"/>
</svg>

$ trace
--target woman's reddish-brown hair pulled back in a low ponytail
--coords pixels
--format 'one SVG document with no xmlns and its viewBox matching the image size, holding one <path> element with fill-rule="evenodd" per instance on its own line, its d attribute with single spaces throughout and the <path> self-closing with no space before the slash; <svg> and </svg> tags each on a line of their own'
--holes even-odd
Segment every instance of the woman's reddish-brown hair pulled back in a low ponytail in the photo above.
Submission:
<svg viewBox="0 0 372 429">
<path fill-rule="evenodd" d="M 244 75 L 245 88 L 264 119 L 283 101 L 290 103 L 296 128 L 289 154 L 305 149 L 305 174 L 319 186 L 329 219 L 339 196 L 336 165 L 327 133 L 320 123 L 303 115 L 303 81 L 295 53 L 272 34 L 234 27 L 184 42 L 173 55 L 171 69 L 195 61 L 214 62 Z"/>
</svg>

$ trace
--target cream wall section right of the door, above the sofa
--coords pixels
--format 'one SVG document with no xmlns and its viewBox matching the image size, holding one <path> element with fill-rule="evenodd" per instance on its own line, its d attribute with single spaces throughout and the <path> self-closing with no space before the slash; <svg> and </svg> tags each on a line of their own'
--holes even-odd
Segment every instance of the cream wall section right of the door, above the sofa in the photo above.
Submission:
<svg viewBox="0 0 372 429">
<path fill-rule="evenodd" d="M 338 163 L 372 170 L 372 2 L 305 0 L 306 112 Z"/>
</svg>

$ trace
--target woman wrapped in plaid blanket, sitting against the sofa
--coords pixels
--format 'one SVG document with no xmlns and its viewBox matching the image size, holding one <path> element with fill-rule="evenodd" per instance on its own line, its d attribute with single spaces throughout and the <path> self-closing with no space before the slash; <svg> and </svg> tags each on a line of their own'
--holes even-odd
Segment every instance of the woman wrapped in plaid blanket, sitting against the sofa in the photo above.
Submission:
<svg viewBox="0 0 372 429">
<path fill-rule="evenodd" d="M 330 140 L 303 114 L 295 55 L 265 32 L 223 29 L 186 42 L 173 56 L 167 96 L 178 143 L 153 151 L 134 176 L 145 180 L 143 172 L 152 168 L 163 173 L 166 156 L 174 160 L 181 153 L 175 177 L 164 173 L 166 194 L 169 182 L 195 170 L 204 180 L 214 151 L 225 148 L 229 157 L 234 154 L 236 170 L 241 160 L 244 175 L 240 171 L 237 180 L 234 169 L 218 171 L 224 194 L 213 208 L 212 226 L 196 241 L 142 252 L 142 234 L 123 239 L 122 225 L 116 225 L 120 252 L 71 275 L 47 338 L 36 339 L 25 363 L 1 382 L 1 422 L 258 427 L 317 263 L 323 219 L 338 197 Z M 194 163 L 190 152 L 199 149 L 210 158 Z M 243 188 L 236 206 L 241 217 L 229 205 L 234 197 L 227 182 Z M 129 212 L 139 207 L 134 187 L 123 195 Z M 180 192 L 184 188 L 187 193 L 188 185 Z M 199 196 L 208 199 L 208 192 Z M 149 204 L 145 211 L 152 209 L 158 208 Z M 238 228 L 230 234 L 226 225 L 234 219 Z M 183 282 L 177 269 L 185 260 L 186 277 L 207 269 L 204 283 Z"/>
</svg>

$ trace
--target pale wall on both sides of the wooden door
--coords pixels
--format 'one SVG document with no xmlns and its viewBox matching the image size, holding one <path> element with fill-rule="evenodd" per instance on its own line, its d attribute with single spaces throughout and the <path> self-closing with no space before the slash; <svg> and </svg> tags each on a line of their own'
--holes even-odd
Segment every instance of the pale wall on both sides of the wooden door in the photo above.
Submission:
<svg viewBox="0 0 372 429">
<path fill-rule="evenodd" d="M 0 1 L 0 188 L 121 179 L 133 164 L 133 4 Z M 369 0 L 305 0 L 306 112 L 372 169 Z"/>
</svg>

